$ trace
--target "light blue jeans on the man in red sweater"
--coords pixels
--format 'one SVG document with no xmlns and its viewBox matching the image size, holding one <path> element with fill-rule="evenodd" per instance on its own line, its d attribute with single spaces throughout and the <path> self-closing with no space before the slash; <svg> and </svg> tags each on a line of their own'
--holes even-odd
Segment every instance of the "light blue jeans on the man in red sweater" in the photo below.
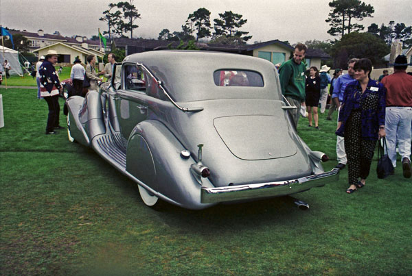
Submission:
<svg viewBox="0 0 412 276">
<path fill-rule="evenodd" d="M 393 168 L 396 167 L 396 142 L 398 140 L 399 154 L 410 160 L 411 156 L 411 122 L 412 108 L 387 107 L 385 115 L 385 132 L 388 147 L 388 155 L 391 158 Z"/>
</svg>

